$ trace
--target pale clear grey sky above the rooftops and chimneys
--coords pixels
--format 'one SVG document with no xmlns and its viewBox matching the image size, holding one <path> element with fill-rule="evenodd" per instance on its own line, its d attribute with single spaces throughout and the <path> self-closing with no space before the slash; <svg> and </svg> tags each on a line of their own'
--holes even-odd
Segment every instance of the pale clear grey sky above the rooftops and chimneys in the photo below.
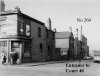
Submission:
<svg viewBox="0 0 100 76">
<path fill-rule="evenodd" d="M 82 33 L 87 37 L 90 54 L 100 50 L 100 0 L 4 0 L 6 10 L 14 10 L 18 6 L 21 11 L 47 24 L 50 17 L 52 29 L 58 32 L 76 29 L 82 26 Z M 77 21 L 77 18 L 88 18 L 91 21 Z"/>
</svg>

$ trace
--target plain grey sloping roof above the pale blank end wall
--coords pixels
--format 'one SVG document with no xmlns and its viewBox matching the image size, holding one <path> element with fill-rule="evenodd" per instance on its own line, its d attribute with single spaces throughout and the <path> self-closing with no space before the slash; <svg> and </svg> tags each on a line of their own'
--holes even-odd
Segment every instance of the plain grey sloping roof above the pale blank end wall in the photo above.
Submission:
<svg viewBox="0 0 100 76">
<path fill-rule="evenodd" d="M 59 39 L 66 39 L 69 38 L 70 36 L 71 36 L 71 32 L 69 31 L 55 33 L 55 38 L 59 38 Z"/>
</svg>

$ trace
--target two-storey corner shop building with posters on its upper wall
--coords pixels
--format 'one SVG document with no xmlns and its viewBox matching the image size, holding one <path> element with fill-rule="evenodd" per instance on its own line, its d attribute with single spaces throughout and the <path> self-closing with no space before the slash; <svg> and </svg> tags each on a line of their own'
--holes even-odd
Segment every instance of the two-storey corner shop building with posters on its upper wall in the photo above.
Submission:
<svg viewBox="0 0 100 76">
<path fill-rule="evenodd" d="M 55 43 L 53 42 L 51 45 L 53 54 Z M 10 61 L 12 50 L 18 52 L 21 62 L 45 61 L 47 58 L 46 46 L 46 27 L 43 22 L 31 18 L 19 10 L 1 14 L 0 54 L 4 51 L 7 63 Z M 54 55 L 52 57 L 54 58 Z"/>
</svg>

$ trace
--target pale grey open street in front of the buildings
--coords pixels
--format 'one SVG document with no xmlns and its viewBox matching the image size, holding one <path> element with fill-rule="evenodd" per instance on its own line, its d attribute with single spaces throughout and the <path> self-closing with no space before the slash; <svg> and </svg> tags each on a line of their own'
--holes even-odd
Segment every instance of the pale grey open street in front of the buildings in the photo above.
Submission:
<svg viewBox="0 0 100 76">
<path fill-rule="evenodd" d="M 100 63 L 93 61 L 81 61 L 80 64 L 88 64 L 88 67 L 66 67 L 67 64 L 79 64 L 79 61 L 66 61 L 63 63 L 54 63 L 46 65 L 1 65 L 0 76 L 100 76 Z M 76 70 L 78 71 L 69 71 Z M 80 72 L 80 69 L 84 71 Z"/>
</svg>

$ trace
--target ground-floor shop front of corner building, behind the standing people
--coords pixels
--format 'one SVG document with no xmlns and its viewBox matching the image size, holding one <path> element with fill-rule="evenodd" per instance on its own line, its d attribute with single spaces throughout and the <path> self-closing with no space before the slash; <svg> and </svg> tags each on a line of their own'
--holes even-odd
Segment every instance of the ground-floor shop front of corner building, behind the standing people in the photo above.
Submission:
<svg viewBox="0 0 100 76">
<path fill-rule="evenodd" d="M 0 40 L 0 61 L 2 53 L 6 56 L 6 63 L 11 63 L 11 53 L 16 52 L 18 59 L 16 63 L 31 61 L 31 42 L 30 40 L 1 39 Z"/>
</svg>

